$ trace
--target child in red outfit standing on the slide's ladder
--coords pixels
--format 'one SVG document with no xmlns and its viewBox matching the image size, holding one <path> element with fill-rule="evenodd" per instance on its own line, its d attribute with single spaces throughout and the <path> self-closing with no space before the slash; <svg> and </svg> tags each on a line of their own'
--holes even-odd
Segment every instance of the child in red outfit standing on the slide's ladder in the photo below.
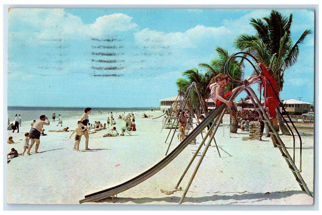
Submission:
<svg viewBox="0 0 322 215">
<path fill-rule="evenodd" d="M 277 88 L 276 80 L 272 77 L 272 75 L 270 74 L 268 69 L 262 63 L 257 63 L 257 65 L 262 70 L 262 72 L 260 73 L 260 76 L 255 76 L 253 78 L 250 78 L 248 81 L 250 84 L 252 84 L 258 78 L 262 79 L 262 81 L 263 81 L 262 86 L 264 88 L 264 90 L 263 90 L 264 97 L 265 97 L 265 90 L 266 90 L 266 107 L 268 109 L 270 117 L 272 118 L 275 130 L 279 131 L 279 126 L 277 123 L 276 112 L 275 112 L 276 107 L 279 105 L 279 98 L 276 97 L 276 95 L 275 95 L 275 93 L 276 93 L 277 96 L 279 96 L 279 90 Z M 267 83 L 267 81 L 270 82 L 273 89 L 270 86 L 270 84 Z M 275 93 L 274 93 L 274 91 L 275 91 Z M 264 103 L 263 103 L 263 105 L 264 105 Z"/>
</svg>

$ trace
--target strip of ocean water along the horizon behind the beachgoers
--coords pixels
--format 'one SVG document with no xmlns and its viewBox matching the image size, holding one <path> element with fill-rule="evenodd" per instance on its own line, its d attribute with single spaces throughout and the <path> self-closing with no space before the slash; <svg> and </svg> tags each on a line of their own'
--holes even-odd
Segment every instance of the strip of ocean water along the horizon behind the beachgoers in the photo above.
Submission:
<svg viewBox="0 0 322 215">
<path fill-rule="evenodd" d="M 50 121 L 52 121 L 52 114 L 56 113 L 56 120 L 58 119 L 58 114 L 61 115 L 62 120 L 72 119 L 76 120 L 81 117 L 84 113 L 85 107 L 24 107 L 24 106 L 8 106 L 8 118 L 10 121 L 14 121 L 14 115 L 20 114 L 22 125 L 24 122 L 30 122 L 33 120 L 38 120 L 40 115 L 46 115 Z M 114 117 L 116 114 L 131 113 L 131 112 L 143 112 L 151 111 L 151 107 L 94 107 L 92 108 L 91 115 L 98 114 L 100 110 L 102 116 L 109 117 L 110 113 L 113 112 Z M 156 110 L 156 107 L 153 108 Z M 158 108 L 160 109 L 160 108 Z M 29 124 L 30 124 L 29 123 Z"/>
</svg>

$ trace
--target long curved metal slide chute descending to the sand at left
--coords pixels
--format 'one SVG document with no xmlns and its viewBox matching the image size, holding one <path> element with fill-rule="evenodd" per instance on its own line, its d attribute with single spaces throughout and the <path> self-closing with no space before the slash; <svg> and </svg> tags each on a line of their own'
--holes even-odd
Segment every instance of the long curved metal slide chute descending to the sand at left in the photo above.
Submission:
<svg viewBox="0 0 322 215">
<path fill-rule="evenodd" d="M 238 93 L 239 94 L 239 93 Z M 236 94 L 235 94 L 236 96 Z M 166 165 L 168 165 L 175 157 L 177 157 L 189 144 L 193 141 L 202 130 L 204 130 L 207 125 L 210 124 L 221 112 L 223 112 L 226 104 L 222 103 L 220 106 L 216 107 L 207 117 L 204 119 L 191 133 L 172 151 L 168 154 L 165 158 L 163 158 L 160 162 L 156 165 L 152 166 L 150 169 L 145 171 L 144 173 L 132 178 L 131 180 L 119 184 L 117 186 L 111 187 L 106 190 L 102 190 L 96 193 L 91 193 L 86 195 L 84 199 L 80 200 L 79 203 L 84 202 L 95 202 L 101 199 L 105 199 L 110 196 L 114 196 L 115 194 L 121 193 L 123 191 L 128 190 L 131 187 L 134 187 L 137 184 L 147 180 L 152 175 L 159 172 L 163 169 Z"/>
</svg>

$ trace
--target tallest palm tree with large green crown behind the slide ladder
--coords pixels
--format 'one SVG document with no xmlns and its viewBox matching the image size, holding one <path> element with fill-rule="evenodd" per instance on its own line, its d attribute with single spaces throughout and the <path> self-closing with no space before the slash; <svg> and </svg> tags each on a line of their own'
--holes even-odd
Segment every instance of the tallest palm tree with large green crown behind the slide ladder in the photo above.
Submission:
<svg viewBox="0 0 322 215">
<path fill-rule="evenodd" d="M 251 18 L 250 24 L 256 30 L 256 35 L 241 34 L 233 42 L 237 49 L 249 52 L 265 66 L 270 67 L 279 91 L 283 89 L 285 70 L 297 61 L 298 45 L 303 43 L 308 34 L 312 33 L 311 30 L 305 30 L 293 44 L 290 31 L 292 17 L 292 14 L 287 18 L 272 10 L 268 17 Z M 289 134 L 279 114 L 277 114 L 277 118 L 282 133 Z"/>
</svg>

